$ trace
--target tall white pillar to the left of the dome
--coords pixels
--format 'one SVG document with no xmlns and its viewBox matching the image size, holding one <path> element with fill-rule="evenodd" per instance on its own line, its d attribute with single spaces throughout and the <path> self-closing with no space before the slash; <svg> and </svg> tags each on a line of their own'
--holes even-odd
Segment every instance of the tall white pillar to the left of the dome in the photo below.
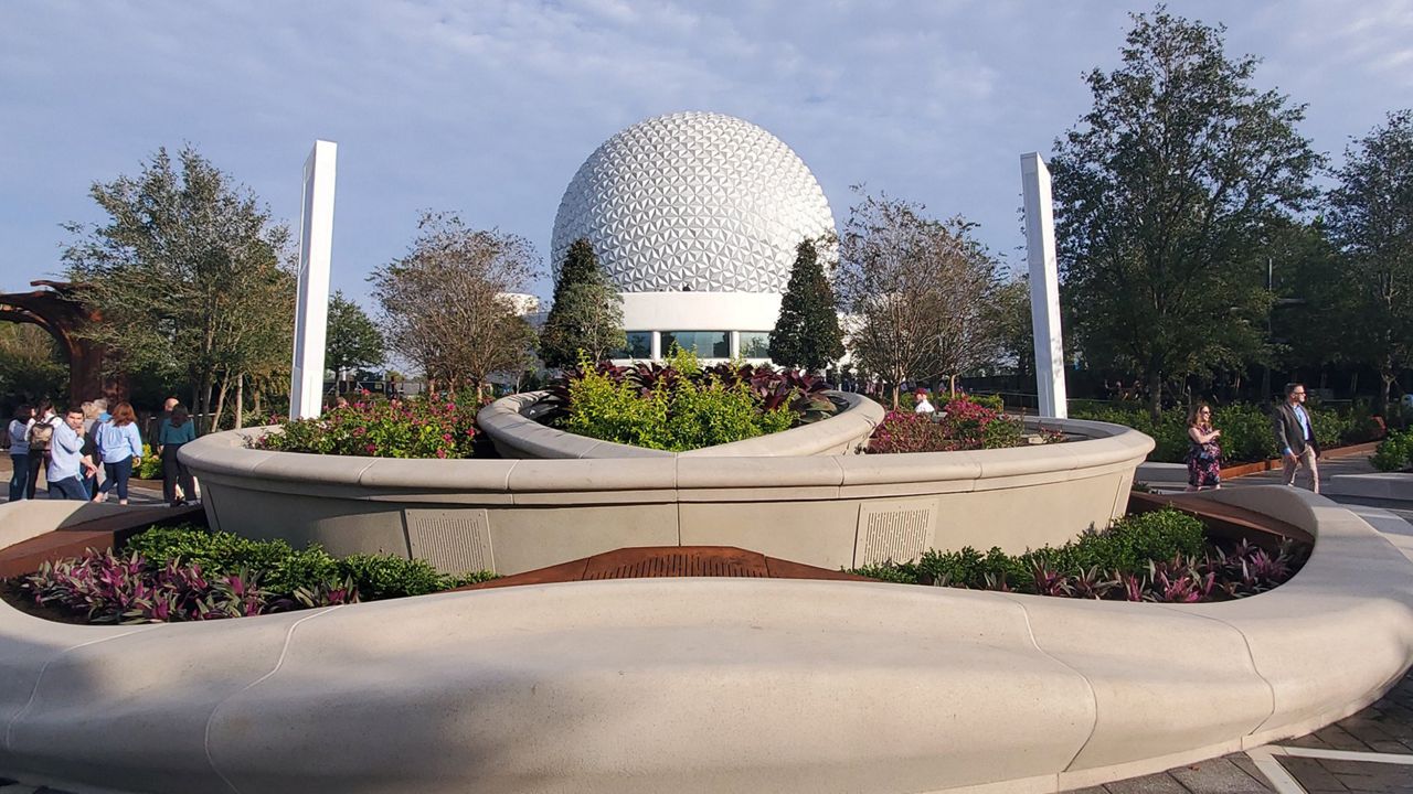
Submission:
<svg viewBox="0 0 1413 794">
<path fill-rule="evenodd" d="M 294 315 L 290 417 L 318 417 L 324 407 L 324 345 L 329 325 L 329 263 L 333 251 L 333 168 L 338 144 L 314 141 L 304 161 L 300 219 L 300 292 Z"/>
</svg>

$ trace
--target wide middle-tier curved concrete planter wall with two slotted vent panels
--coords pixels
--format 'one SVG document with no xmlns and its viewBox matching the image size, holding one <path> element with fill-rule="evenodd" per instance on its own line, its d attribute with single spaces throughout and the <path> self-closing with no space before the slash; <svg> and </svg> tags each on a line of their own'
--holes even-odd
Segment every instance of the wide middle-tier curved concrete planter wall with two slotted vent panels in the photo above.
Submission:
<svg viewBox="0 0 1413 794">
<path fill-rule="evenodd" d="M 182 446 L 213 528 L 519 574 L 632 545 L 735 545 L 821 568 L 928 547 L 1061 544 L 1122 514 L 1153 441 L 1046 420 L 1065 444 L 978 452 L 406 461 Z M 964 519 L 962 519 L 964 517 Z"/>
</svg>

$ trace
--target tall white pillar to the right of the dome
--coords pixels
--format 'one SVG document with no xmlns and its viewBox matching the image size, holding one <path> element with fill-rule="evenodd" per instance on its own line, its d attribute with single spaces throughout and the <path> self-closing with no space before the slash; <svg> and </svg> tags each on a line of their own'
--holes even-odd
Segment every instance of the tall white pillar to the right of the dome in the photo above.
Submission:
<svg viewBox="0 0 1413 794">
<path fill-rule="evenodd" d="M 1036 391 L 1040 415 L 1068 417 L 1064 389 L 1064 339 L 1060 333 L 1060 270 L 1050 170 L 1040 154 L 1020 155 L 1026 199 L 1026 260 L 1030 264 L 1030 325 L 1036 339 Z"/>
</svg>

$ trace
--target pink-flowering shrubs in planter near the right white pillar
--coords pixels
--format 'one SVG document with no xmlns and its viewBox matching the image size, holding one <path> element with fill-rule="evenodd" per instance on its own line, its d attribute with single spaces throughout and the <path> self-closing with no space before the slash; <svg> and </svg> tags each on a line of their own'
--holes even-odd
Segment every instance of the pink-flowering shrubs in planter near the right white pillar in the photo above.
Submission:
<svg viewBox="0 0 1413 794">
<path fill-rule="evenodd" d="M 1022 444 L 1022 424 L 998 408 L 957 396 L 944 411 L 916 414 L 889 411 L 873 429 L 866 452 L 952 452 L 999 449 Z"/>
</svg>

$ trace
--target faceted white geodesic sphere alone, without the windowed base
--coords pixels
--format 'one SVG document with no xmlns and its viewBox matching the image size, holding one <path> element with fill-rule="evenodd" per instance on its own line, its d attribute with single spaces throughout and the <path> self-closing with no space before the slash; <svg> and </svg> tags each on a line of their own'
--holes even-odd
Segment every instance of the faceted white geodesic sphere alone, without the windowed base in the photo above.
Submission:
<svg viewBox="0 0 1413 794">
<path fill-rule="evenodd" d="M 796 246 L 832 233 L 804 161 L 721 113 L 673 113 L 603 141 L 554 219 L 555 267 L 588 237 L 623 292 L 784 292 Z"/>
</svg>

